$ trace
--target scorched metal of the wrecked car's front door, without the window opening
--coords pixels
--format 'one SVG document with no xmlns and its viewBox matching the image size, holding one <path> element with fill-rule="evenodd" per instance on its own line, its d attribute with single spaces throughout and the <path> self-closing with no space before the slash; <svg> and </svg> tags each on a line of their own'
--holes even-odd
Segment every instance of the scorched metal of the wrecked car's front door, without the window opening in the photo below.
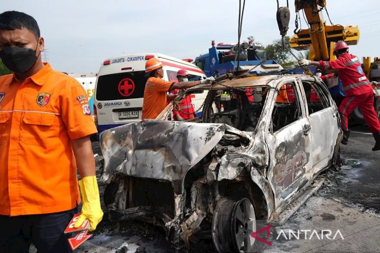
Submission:
<svg viewBox="0 0 380 253">
<path fill-rule="evenodd" d="M 288 82 L 296 82 L 295 79 L 289 79 Z M 279 89 L 283 84 L 280 83 Z M 312 168 L 312 145 L 309 136 L 309 120 L 304 114 L 305 110 L 300 103 L 302 93 L 298 85 L 296 89 L 296 101 L 299 102 L 302 111 L 302 118 L 281 128 L 275 133 L 267 132 L 266 143 L 269 147 L 269 169 L 268 180 L 275 196 L 276 212 L 280 213 L 288 205 L 299 190 L 311 182 L 312 175 L 309 171 Z M 272 115 L 275 98 L 272 99 Z M 267 128 L 270 128 L 268 126 Z"/>
</svg>

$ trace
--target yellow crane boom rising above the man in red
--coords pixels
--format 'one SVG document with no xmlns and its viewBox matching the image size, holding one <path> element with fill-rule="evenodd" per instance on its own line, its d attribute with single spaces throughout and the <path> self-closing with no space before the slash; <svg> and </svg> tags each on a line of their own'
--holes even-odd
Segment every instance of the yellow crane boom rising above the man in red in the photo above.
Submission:
<svg viewBox="0 0 380 253">
<path fill-rule="evenodd" d="M 326 25 L 321 10 L 326 7 L 326 0 L 294 0 L 296 9 L 296 29 L 290 38 L 290 46 L 298 51 L 310 48 L 309 60 L 335 60 L 332 49 L 337 41 L 343 40 L 348 45 L 359 42 L 357 26 Z M 319 7 L 319 8 L 318 8 Z M 308 29 L 298 30 L 299 11 L 303 10 Z"/>
</svg>

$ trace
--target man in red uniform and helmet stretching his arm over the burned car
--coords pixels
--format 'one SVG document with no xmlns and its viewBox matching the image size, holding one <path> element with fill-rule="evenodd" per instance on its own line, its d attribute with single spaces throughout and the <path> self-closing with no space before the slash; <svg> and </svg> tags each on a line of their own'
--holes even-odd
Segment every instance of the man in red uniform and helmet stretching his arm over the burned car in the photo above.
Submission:
<svg viewBox="0 0 380 253">
<path fill-rule="evenodd" d="M 345 99 L 340 103 L 339 112 L 342 119 L 342 130 L 344 133 L 342 144 L 347 145 L 350 131 L 348 130 L 348 116 L 359 106 L 364 120 L 375 138 L 375 146 L 372 151 L 380 150 L 380 123 L 374 108 L 374 90 L 361 68 L 359 58 L 348 54 L 348 46 L 344 41 L 335 44 L 334 61 L 310 61 L 300 59 L 299 65 L 314 65 L 324 70 L 337 70 L 343 89 L 346 93 Z"/>
</svg>

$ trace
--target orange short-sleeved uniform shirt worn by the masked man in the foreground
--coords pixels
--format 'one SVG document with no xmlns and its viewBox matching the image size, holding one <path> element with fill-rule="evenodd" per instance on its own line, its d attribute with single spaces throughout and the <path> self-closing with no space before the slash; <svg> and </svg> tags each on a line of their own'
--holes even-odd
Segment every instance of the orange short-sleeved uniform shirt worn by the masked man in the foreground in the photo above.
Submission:
<svg viewBox="0 0 380 253">
<path fill-rule="evenodd" d="M 97 133 L 88 103 L 84 88 L 48 63 L 23 83 L 0 76 L 1 215 L 62 212 L 80 203 L 70 140 Z"/>
</svg>

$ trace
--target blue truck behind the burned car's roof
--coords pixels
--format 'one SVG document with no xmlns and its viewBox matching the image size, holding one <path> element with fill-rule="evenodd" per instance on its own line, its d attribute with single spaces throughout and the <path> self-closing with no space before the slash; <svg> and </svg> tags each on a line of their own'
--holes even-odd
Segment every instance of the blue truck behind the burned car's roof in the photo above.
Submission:
<svg viewBox="0 0 380 253">
<path fill-rule="evenodd" d="M 211 48 L 207 54 L 199 55 L 193 62 L 207 77 L 225 74 L 227 71 L 236 70 L 239 57 L 239 70 L 250 70 L 266 58 L 265 51 L 260 50 L 260 44 L 242 43 L 240 50 L 237 44 L 211 42 Z M 240 51 L 240 54 L 239 54 Z M 251 74 L 260 74 L 270 71 L 283 70 L 275 60 L 267 60 L 262 65 L 250 71 Z"/>
</svg>

